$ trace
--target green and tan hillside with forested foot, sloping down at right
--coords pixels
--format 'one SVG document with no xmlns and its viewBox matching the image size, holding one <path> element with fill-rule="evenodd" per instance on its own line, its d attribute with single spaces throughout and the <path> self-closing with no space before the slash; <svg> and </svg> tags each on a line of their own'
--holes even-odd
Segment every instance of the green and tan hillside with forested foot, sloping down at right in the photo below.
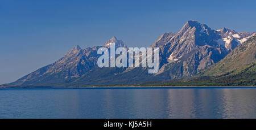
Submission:
<svg viewBox="0 0 256 130">
<path fill-rule="evenodd" d="M 220 62 L 188 79 L 140 83 L 139 86 L 255 86 L 256 36 L 230 51 Z"/>
</svg>

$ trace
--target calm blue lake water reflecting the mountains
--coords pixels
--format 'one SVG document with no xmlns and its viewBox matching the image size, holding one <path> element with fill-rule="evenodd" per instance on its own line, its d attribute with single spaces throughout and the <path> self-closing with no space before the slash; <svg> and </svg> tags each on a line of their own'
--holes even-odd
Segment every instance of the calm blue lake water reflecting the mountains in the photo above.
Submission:
<svg viewBox="0 0 256 130">
<path fill-rule="evenodd" d="M 256 118 L 256 89 L 0 89 L 0 118 Z"/>
</svg>

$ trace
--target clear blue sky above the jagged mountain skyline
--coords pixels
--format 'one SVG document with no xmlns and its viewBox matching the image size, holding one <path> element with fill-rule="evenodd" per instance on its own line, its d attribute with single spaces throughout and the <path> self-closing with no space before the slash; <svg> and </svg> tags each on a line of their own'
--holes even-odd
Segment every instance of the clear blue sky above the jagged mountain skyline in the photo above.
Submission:
<svg viewBox="0 0 256 130">
<path fill-rule="evenodd" d="M 210 28 L 256 31 L 252 1 L 0 0 L 0 84 L 55 62 L 75 45 L 102 45 L 112 36 L 149 46 L 187 20 Z"/>
</svg>

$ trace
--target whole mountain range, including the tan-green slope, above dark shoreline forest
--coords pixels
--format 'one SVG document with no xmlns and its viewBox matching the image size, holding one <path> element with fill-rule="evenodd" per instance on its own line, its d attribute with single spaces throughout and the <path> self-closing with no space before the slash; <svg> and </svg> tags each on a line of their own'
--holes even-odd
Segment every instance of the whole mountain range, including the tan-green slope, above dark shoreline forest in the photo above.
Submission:
<svg viewBox="0 0 256 130">
<path fill-rule="evenodd" d="M 81 49 L 75 46 L 55 63 L 29 73 L 3 86 L 92 86 L 137 84 L 148 81 L 189 79 L 195 76 L 223 76 L 247 69 L 255 73 L 255 32 L 211 29 L 189 20 L 177 33 L 164 33 L 150 47 L 159 47 L 159 72 L 148 74 L 148 68 L 99 68 L 100 47 L 128 48 L 122 40 L 110 38 L 102 46 Z M 246 72 L 247 72 L 246 71 Z M 229 74 L 227 74 L 229 73 Z M 255 77 L 251 79 L 255 84 Z M 186 80 L 187 81 L 187 80 Z"/>
</svg>

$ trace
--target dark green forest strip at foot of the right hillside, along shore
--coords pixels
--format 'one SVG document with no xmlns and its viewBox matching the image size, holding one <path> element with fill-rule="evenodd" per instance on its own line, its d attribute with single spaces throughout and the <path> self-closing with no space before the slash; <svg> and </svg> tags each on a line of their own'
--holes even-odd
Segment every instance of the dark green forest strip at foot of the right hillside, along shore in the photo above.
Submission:
<svg viewBox="0 0 256 130">
<path fill-rule="evenodd" d="M 117 84 L 115 86 L 121 86 Z M 170 81 L 152 81 L 125 86 L 256 86 L 256 63 L 220 76 L 201 76 Z"/>
</svg>

